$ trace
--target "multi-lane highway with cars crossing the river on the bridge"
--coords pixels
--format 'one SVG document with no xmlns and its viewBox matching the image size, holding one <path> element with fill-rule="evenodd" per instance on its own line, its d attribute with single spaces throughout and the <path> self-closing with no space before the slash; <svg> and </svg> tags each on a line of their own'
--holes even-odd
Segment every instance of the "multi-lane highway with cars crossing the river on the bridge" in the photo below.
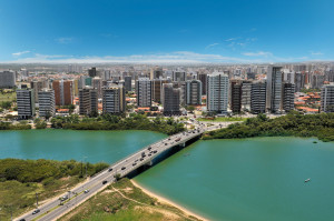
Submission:
<svg viewBox="0 0 334 221">
<path fill-rule="evenodd" d="M 148 147 L 143 148 L 141 150 L 135 152 L 131 155 L 111 164 L 106 170 L 100 173 L 94 175 L 88 181 L 84 182 L 81 185 L 70 190 L 67 193 L 63 193 L 62 197 L 68 199 L 63 200 L 60 204 L 60 200 L 51 200 L 50 202 L 40 205 L 38 209 L 40 210 L 38 213 L 32 214 L 35 211 L 30 211 L 16 220 L 40 220 L 40 221 L 50 221 L 60 218 L 61 215 L 69 212 L 71 209 L 76 208 L 78 204 L 85 202 L 90 197 L 105 189 L 111 182 L 115 182 L 115 175 L 120 174 L 120 177 L 125 177 L 137 168 L 148 164 L 154 160 L 159 153 L 175 147 L 178 144 L 183 144 L 188 140 L 191 140 L 205 131 L 217 130 L 219 128 L 227 127 L 227 123 L 224 125 L 215 124 L 212 127 L 206 127 L 204 123 L 198 123 L 197 129 L 180 132 L 174 135 L 170 135 L 166 139 L 159 140 Z M 85 190 L 88 190 L 88 192 Z"/>
</svg>

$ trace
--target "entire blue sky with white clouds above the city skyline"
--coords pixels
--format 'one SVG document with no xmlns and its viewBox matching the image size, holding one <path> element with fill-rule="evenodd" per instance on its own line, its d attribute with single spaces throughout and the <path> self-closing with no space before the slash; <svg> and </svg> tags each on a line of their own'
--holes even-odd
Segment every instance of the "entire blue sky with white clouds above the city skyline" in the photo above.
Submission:
<svg viewBox="0 0 334 221">
<path fill-rule="evenodd" d="M 334 60 L 333 0 L 0 0 L 0 62 Z"/>
</svg>

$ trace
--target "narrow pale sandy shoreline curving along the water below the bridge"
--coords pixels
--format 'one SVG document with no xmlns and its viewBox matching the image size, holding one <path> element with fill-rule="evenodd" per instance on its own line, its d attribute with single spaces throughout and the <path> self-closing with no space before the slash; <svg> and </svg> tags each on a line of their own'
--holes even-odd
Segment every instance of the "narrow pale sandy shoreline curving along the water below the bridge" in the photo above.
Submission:
<svg viewBox="0 0 334 221">
<path fill-rule="evenodd" d="M 135 180 L 130 180 L 130 182 L 136 187 L 136 188 L 139 188 L 143 192 L 145 192 L 146 194 L 148 194 L 149 197 L 151 198 L 156 198 L 159 202 L 163 202 L 163 203 L 166 203 L 166 204 L 170 204 L 175 208 L 177 208 L 178 210 L 180 210 L 181 212 L 184 212 L 185 214 L 187 215 L 191 215 L 191 217 L 195 217 L 196 219 L 198 220 L 203 220 L 203 221 L 209 221 L 207 218 L 204 218 L 197 213 L 194 213 L 191 211 L 189 211 L 188 209 L 184 208 L 183 205 L 180 204 L 177 204 L 170 200 L 167 200 L 166 198 L 161 197 L 161 195 L 158 195 L 154 192 L 151 192 L 150 190 L 144 188 L 143 185 L 138 184 Z"/>
</svg>

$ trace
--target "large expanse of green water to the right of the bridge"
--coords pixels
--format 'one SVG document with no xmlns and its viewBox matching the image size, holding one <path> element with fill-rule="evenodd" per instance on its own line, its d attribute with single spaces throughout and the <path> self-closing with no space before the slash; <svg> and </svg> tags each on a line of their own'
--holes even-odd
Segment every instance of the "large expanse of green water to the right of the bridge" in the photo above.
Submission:
<svg viewBox="0 0 334 221">
<path fill-rule="evenodd" d="M 334 143 L 314 140 L 199 141 L 135 180 L 210 220 L 328 221 Z"/>
</svg>

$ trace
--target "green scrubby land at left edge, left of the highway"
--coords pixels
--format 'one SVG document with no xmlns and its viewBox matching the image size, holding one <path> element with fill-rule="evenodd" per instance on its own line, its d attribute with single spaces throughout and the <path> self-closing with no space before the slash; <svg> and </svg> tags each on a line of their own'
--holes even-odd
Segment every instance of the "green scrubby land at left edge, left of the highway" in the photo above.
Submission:
<svg viewBox="0 0 334 221">
<path fill-rule="evenodd" d="M 87 174 L 106 167 L 87 163 Z M 0 160 L 0 220 L 10 220 L 11 211 L 17 217 L 35 208 L 36 193 L 41 202 L 84 181 L 81 168 L 86 164 L 73 160 Z"/>
</svg>

